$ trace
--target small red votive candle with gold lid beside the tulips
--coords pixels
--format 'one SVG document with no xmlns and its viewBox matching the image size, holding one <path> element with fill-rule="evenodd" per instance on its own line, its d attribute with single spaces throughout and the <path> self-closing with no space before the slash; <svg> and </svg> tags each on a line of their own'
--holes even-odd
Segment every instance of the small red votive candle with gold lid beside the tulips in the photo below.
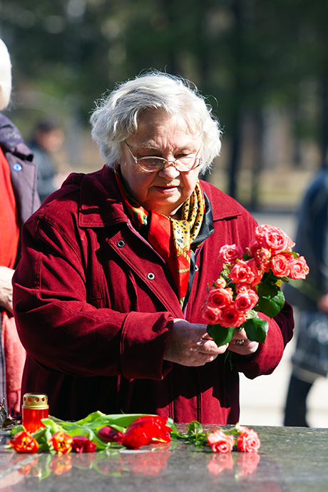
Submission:
<svg viewBox="0 0 328 492">
<path fill-rule="evenodd" d="M 21 423 L 26 431 L 36 432 L 45 427 L 41 419 L 46 419 L 49 414 L 48 396 L 43 393 L 26 393 L 23 396 L 21 406 Z"/>
</svg>

